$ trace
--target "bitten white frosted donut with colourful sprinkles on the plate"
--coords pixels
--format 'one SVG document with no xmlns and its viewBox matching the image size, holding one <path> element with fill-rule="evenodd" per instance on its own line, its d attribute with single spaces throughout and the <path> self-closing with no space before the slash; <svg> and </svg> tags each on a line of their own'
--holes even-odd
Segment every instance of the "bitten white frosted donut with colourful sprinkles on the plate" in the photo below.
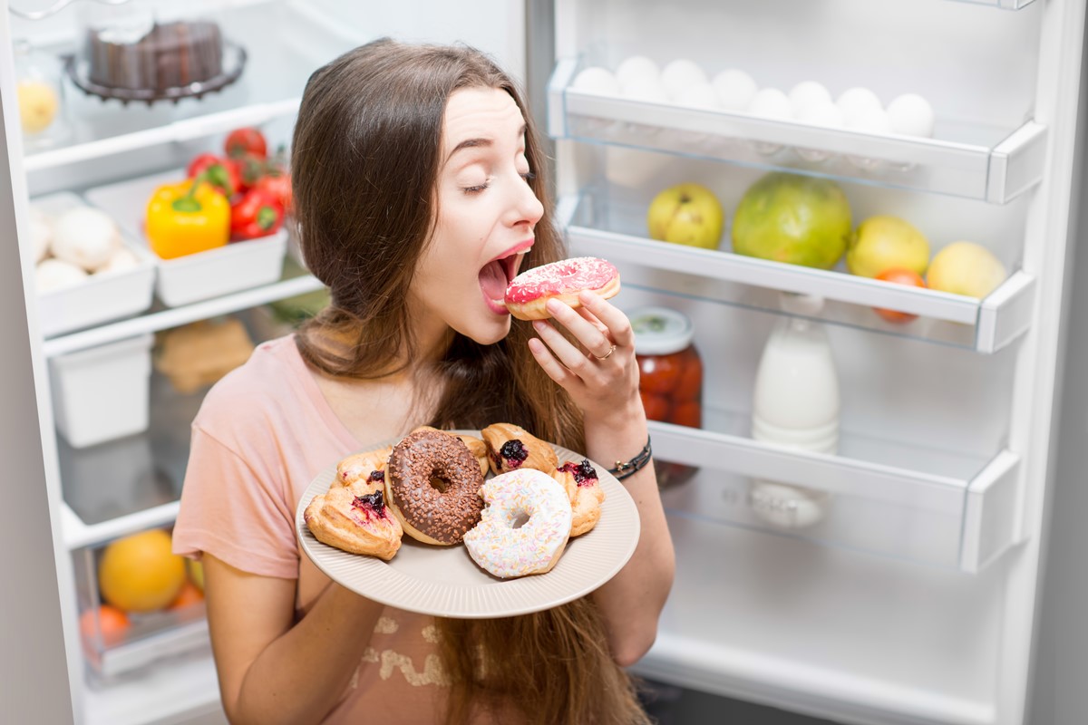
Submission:
<svg viewBox="0 0 1088 725">
<path fill-rule="evenodd" d="M 562 486 L 522 468 L 486 482 L 480 496 L 487 507 L 463 539 L 472 561 L 503 579 L 551 571 L 570 538 L 570 499 Z"/>
</svg>

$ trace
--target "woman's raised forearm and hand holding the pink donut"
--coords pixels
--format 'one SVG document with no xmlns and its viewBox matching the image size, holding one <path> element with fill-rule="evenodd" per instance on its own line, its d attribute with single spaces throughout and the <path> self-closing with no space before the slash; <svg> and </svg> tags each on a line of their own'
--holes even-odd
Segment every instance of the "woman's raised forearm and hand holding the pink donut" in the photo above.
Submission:
<svg viewBox="0 0 1088 725">
<path fill-rule="evenodd" d="M 547 310 L 585 350 L 542 322 L 534 323 L 534 328 L 543 342 L 530 340 L 529 346 L 552 379 L 582 409 L 585 454 L 613 465 L 631 460 L 646 445 L 634 334 L 627 316 L 598 295 L 583 292 L 581 302 L 584 307 L 574 311 L 553 300 Z M 653 464 L 622 484 L 639 509 L 639 545 L 627 565 L 593 597 L 605 615 L 613 657 L 626 666 L 642 658 L 657 636 L 657 620 L 672 587 L 676 564 Z"/>
</svg>

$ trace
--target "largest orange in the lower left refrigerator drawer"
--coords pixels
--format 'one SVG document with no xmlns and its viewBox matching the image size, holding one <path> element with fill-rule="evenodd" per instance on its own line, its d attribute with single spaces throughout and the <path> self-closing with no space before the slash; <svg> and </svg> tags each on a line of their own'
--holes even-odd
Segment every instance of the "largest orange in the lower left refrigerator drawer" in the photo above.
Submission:
<svg viewBox="0 0 1088 725">
<path fill-rule="evenodd" d="M 98 564 L 98 588 L 107 603 L 126 612 L 169 607 L 185 584 L 185 560 L 170 548 L 170 534 L 150 529 L 113 541 Z"/>
</svg>

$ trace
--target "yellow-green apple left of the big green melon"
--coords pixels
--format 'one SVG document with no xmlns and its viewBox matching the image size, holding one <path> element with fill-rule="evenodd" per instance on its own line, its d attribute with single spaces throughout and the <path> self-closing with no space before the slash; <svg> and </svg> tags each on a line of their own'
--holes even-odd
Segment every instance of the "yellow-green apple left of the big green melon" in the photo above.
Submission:
<svg viewBox="0 0 1088 725">
<path fill-rule="evenodd" d="M 675 245 L 717 249 L 725 212 L 714 192 L 698 184 L 665 189 L 650 203 L 650 237 Z"/>
</svg>

